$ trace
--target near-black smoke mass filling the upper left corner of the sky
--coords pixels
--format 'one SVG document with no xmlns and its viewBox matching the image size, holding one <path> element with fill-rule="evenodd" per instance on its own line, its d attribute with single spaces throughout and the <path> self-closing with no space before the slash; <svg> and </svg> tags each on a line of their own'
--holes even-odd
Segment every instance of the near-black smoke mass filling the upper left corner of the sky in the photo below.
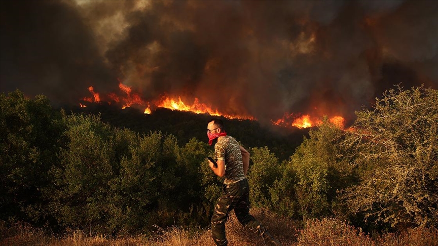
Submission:
<svg viewBox="0 0 438 246">
<path fill-rule="evenodd" d="M 2 1 L 0 40 L 2 92 L 77 103 L 90 84 L 117 81 L 80 13 L 62 2 Z"/>
</svg>

